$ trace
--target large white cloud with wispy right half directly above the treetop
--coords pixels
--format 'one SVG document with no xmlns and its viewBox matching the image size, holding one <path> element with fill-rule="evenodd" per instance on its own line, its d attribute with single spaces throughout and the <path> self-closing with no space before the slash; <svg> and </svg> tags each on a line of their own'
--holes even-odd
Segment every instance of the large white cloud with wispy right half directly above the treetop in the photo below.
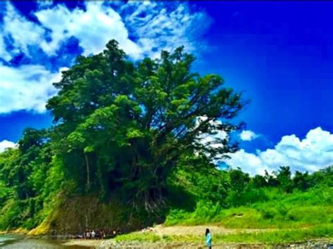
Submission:
<svg viewBox="0 0 333 249">
<path fill-rule="evenodd" d="M 41 44 L 46 53 L 54 54 L 61 41 L 76 37 L 84 54 L 103 51 L 110 39 L 119 41 L 124 51 L 134 59 L 159 55 L 161 49 L 172 50 L 184 45 L 195 49 L 193 37 L 209 25 L 207 15 L 190 13 L 187 4 L 167 10 L 163 3 L 129 2 L 122 6 L 122 18 L 110 6 L 101 1 L 86 2 L 86 11 L 65 6 L 44 9 L 35 13 L 39 22 L 51 30 L 51 42 Z M 129 39 L 129 34 L 136 41 Z"/>
</svg>

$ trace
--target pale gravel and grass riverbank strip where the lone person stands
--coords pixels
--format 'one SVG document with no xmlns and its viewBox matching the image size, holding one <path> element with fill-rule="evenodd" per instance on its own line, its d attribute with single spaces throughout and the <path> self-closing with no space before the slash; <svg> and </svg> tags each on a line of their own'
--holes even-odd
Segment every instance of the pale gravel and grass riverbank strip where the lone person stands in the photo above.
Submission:
<svg viewBox="0 0 333 249">
<path fill-rule="evenodd" d="M 204 248 L 206 226 L 155 226 L 104 241 L 70 240 L 90 248 Z M 329 248 L 332 226 L 304 229 L 225 229 L 209 226 L 214 248 Z"/>
</svg>

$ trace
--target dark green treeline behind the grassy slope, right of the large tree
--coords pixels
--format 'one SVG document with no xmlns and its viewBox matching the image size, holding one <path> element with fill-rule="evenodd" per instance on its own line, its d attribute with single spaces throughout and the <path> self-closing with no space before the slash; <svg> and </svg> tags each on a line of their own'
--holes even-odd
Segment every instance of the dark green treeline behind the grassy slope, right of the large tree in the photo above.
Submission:
<svg viewBox="0 0 333 249">
<path fill-rule="evenodd" d="M 296 171 L 292 174 L 290 167 L 281 166 L 271 174 L 255 175 L 242 172 L 240 168 L 217 170 L 201 167 L 194 170 L 192 166 L 181 167 L 171 179 L 171 186 L 175 187 L 174 196 L 180 193 L 190 193 L 195 202 L 206 200 L 209 203 L 218 203 L 223 208 L 233 208 L 252 203 L 266 202 L 270 195 L 287 195 L 288 193 L 313 188 L 333 187 L 333 166 L 326 167 L 309 174 Z M 178 187 L 178 188 L 177 188 Z M 182 189 L 185 190 L 182 192 Z M 179 196 L 175 203 L 181 203 Z M 177 198 L 177 197 L 174 197 Z M 183 203 L 183 207 L 190 208 L 193 203 Z"/>
</svg>

